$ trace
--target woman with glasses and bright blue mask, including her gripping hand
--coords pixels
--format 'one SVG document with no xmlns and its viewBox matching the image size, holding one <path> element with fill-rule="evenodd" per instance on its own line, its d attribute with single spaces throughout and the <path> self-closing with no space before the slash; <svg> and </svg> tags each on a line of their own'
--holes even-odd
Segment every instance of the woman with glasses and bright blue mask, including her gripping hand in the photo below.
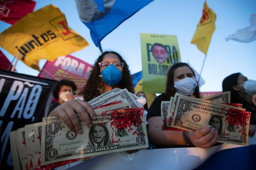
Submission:
<svg viewBox="0 0 256 170">
<path fill-rule="evenodd" d="M 76 113 L 79 113 L 88 127 L 90 119 L 96 119 L 95 112 L 87 102 L 114 88 L 126 88 L 134 93 L 132 76 L 124 59 L 114 51 L 106 51 L 94 63 L 90 77 L 79 93 L 80 97 L 56 107 L 49 116 L 60 117 L 66 125 L 77 133 L 82 133 Z"/>
</svg>

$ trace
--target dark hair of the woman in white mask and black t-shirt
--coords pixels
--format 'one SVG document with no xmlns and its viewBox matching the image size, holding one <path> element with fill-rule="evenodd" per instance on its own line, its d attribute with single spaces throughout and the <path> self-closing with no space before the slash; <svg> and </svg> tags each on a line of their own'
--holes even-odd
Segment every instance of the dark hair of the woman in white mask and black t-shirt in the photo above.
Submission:
<svg viewBox="0 0 256 170">
<path fill-rule="evenodd" d="M 171 97 L 174 97 L 176 90 L 174 88 L 174 72 L 177 68 L 179 67 L 183 67 L 186 66 L 188 68 L 190 68 L 190 70 L 192 71 L 192 73 L 194 74 L 194 76 L 196 77 L 196 74 L 194 72 L 194 70 L 187 64 L 187 63 L 175 63 L 171 66 L 170 70 L 168 71 L 167 74 L 167 80 L 166 80 L 166 89 L 165 89 L 165 96 L 170 99 Z M 194 91 L 194 96 L 196 98 L 201 98 L 200 93 L 199 93 L 199 86 L 196 86 L 196 89 Z"/>
</svg>

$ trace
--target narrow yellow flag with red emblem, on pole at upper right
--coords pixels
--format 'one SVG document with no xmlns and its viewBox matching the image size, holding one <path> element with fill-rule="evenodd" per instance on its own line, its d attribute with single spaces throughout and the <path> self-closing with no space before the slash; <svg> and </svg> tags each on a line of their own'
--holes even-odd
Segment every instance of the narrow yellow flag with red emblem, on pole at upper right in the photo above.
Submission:
<svg viewBox="0 0 256 170">
<path fill-rule="evenodd" d="M 197 48 L 205 55 L 207 54 L 208 47 L 215 31 L 216 14 L 208 7 L 206 1 L 204 2 L 203 16 L 197 24 L 196 32 L 191 40 Z"/>
</svg>

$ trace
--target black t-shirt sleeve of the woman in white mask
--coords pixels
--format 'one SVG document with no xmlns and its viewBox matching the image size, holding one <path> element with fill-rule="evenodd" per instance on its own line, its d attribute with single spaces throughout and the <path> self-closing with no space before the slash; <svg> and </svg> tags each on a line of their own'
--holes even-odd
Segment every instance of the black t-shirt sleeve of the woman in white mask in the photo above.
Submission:
<svg viewBox="0 0 256 170">
<path fill-rule="evenodd" d="M 148 114 L 147 114 L 147 120 L 150 117 L 161 116 L 161 102 L 162 101 L 170 101 L 170 98 L 168 98 L 165 94 L 160 94 L 159 96 L 157 96 L 149 107 Z"/>
</svg>

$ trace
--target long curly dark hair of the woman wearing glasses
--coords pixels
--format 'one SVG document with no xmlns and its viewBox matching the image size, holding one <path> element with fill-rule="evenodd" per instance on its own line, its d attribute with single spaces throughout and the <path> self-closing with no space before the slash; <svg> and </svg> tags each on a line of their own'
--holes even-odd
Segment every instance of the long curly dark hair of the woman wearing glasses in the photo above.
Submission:
<svg viewBox="0 0 256 170">
<path fill-rule="evenodd" d="M 108 54 L 112 53 L 118 56 L 120 62 L 124 63 L 123 72 L 122 72 L 122 79 L 117 84 L 118 88 L 124 89 L 126 88 L 129 92 L 134 94 L 134 88 L 132 84 L 132 75 L 130 74 L 129 66 L 126 64 L 124 59 L 114 51 L 105 51 L 96 59 L 94 66 L 91 70 L 91 74 L 87 80 L 86 85 L 84 86 L 83 90 L 79 92 L 80 96 L 84 97 L 84 101 L 88 102 L 93 98 L 100 96 L 101 94 L 105 93 L 104 91 L 104 82 L 99 77 L 100 75 L 100 66 L 98 63 L 102 62 L 103 57 Z"/>
</svg>

